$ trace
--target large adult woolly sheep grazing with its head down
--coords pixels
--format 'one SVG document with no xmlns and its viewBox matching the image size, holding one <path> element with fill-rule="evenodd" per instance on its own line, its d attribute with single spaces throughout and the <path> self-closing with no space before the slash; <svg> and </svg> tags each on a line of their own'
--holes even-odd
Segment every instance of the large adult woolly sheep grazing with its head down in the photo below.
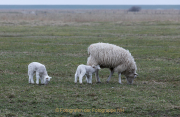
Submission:
<svg viewBox="0 0 180 117">
<path fill-rule="evenodd" d="M 121 84 L 121 74 L 126 76 L 129 84 L 136 78 L 137 67 L 133 56 L 128 50 L 109 43 L 95 43 L 88 47 L 87 65 L 100 65 L 101 68 L 109 68 L 111 79 L 114 72 L 118 72 L 119 83 Z M 98 70 L 95 73 L 97 82 L 100 82 Z"/>
</svg>

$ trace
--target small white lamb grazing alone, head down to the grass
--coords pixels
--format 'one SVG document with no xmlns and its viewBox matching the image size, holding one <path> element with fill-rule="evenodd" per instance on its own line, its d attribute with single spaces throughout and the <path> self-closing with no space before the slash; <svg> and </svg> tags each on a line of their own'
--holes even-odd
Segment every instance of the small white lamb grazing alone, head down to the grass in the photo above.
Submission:
<svg viewBox="0 0 180 117">
<path fill-rule="evenodd" d="M 52 78 L 48 76 L 46 67 L 38 62 L 32 62 L 28 65 L 29 83 L 34 84 L 34 74 L 36 74 L 36 84 L 39 84 L 39 79 L 41 80 L 41 84 L 48 84 Z"/>
</svg>

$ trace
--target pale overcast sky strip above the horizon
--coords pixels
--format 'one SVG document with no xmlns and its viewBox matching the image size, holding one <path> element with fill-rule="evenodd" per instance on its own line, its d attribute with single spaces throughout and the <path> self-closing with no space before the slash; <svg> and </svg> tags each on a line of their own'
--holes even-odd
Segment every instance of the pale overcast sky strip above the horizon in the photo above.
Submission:
<svg viewBox="0 0 180 117">
<path fill-rule="evenodd" d="M 180 0 L 0 0 L 0 5 L 180 5 Z"/>
</svg>

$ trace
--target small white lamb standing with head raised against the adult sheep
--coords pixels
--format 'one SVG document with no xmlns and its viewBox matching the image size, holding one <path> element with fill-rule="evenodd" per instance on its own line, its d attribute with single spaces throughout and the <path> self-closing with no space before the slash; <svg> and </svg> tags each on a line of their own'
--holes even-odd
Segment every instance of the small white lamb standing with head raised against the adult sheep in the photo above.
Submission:
<svg viewBox="0 0 180 117">
<path fill-rule="evenodd" d="M 77 83 L 77 77 L 79 77 L 79 83 L 82 83 L 82 78 L 85 75 L 87 83 L 92 83 L 92 74 L 95 73 L 97 70 L 101 69 L 99 65 L 97 66 L 87 66 L 87 65 L 79 65 L 77 67 L 75 73 L 75 83 Z"/>
</svg>

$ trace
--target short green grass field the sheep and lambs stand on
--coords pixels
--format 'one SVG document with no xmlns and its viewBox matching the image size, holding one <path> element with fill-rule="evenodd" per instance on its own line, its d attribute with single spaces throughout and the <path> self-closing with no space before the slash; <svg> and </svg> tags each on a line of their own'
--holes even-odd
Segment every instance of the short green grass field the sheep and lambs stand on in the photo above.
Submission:
<svg viewBox="0 0 180 117">
<path fill-rule="evenodd" d="M 0 28 L 0 116 L 180 116 L 180 23 L 72 23 Z M 115 73 L 107 84 L 74 84 L 92 43 L 112 43 L 134 56 L 133 85 Z M 30 62 L 45 64 L 48 85 L 28 84 Z M 34 77 L 35 80 L 35 77 Z"/>
</svg>

